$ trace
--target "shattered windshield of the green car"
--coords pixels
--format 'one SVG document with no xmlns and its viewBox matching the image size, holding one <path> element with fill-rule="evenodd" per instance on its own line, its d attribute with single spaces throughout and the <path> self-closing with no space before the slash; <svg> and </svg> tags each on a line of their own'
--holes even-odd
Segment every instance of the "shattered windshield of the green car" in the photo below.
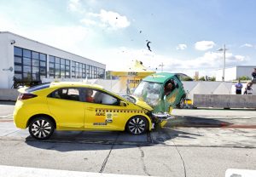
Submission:
<svg viewBox="0 0 256 177">
<path fill-rule="evenodd" d="M 143 99 L 149 106 L 156 106 L 160 99 L 161 83 L 143 81 L 134 90 L 133 95 Z"/>
</svg>

